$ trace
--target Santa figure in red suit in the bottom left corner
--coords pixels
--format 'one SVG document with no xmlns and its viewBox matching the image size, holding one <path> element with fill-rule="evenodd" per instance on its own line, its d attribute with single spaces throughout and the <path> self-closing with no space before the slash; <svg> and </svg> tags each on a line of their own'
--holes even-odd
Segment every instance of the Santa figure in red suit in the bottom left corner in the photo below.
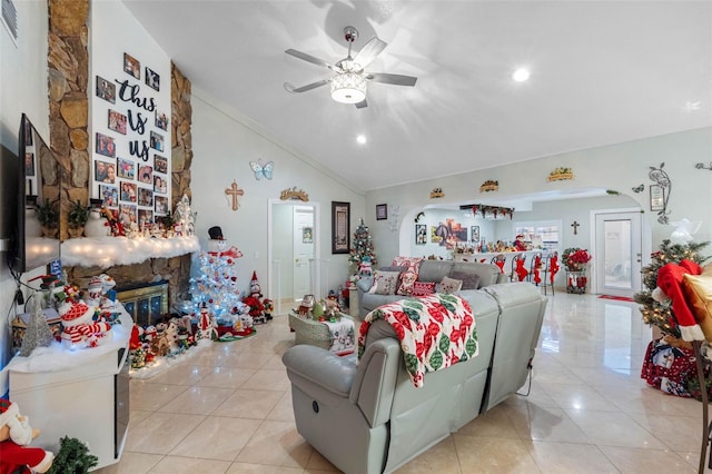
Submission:
<svg viewBox="0 0 712 474">
<path fill-rule="evenodd" d="M 55 461 L 52 452 L 29 446 L 39 434 L 30 419 L 20 415 L 16 403 L 0 398 L 0 474 L 49 471 Z"/>
</svg>

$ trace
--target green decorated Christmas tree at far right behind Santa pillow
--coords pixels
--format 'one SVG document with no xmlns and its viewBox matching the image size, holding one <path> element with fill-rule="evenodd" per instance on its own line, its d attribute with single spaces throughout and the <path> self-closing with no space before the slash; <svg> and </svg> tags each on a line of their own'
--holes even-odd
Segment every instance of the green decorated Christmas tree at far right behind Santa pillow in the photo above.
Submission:
<svg viewBox="0 0 712 474">
<path fill-rule="evenodd" d="M 653 290 L 657 287 L 657 270 L 665 264 L 679 264 L 682 259 L 688 259 L 702 264 L 706 257 L 700 255 L 700 250 L 709 243 L 686 243 L 671 244 L 669 239 L 663 240 L 660 250 L 651 254 L 651 264 L 643 267 L 643 286 L 642 292 L 635 294 L 635 303 L 643 306 L 640 310 L 643 315 L 643 322 L 650 326 L 657 326 L 664 334 L 680 338 L 680 329 L 674 323 L 674 316 L 671 312 L 671 303 L 656 302 L 653 299 Z"/>
</svg>

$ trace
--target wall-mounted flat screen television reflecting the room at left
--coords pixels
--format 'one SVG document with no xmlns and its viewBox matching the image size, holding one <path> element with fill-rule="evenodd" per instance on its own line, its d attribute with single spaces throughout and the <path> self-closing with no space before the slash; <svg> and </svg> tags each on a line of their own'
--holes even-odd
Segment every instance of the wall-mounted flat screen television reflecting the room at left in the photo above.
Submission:
<svg viewBox="0 0 712 474">
<path fill-rule="evenodd" d="M 10 234 L 8 266 L 17 276 L 47 265 L 60 257 L 59 196 L 61 167 L 47 142 L 22 113 L 18 136 L 18 159 L 14 182 L 4 182 L 14 189 L 17 213 Z M 12 180 L 12 176 L 9 176 Z M 39 207 L 53 210 L 55 225 L 41 225 Z"/>
</svg>

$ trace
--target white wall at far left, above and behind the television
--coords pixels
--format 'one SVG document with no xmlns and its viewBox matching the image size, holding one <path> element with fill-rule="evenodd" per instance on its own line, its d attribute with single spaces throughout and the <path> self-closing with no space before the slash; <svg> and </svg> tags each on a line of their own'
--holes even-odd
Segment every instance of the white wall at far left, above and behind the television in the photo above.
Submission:
<svg viewBox="0 0 712 474">
<path fill-rule="evenodd" d="M 49 141 L 49 101 L 47 90 L 47 2 L 16 1 L 19 39 L 14 46 L 4 27 L 0 26 L 0 142 L 18 150 L 20 117 L 27 113 L 38 132 Z M 1 177 L 4 182 L 7 177 Z M 1 186 L 1 185 L 0 185 Z M 14 208 L 14 203 L 2 203 L 0 213 Z M 2 219 L 0 218 L 0 221 Z M 0 238 L 8 238 L 2 229 Z M 10 358 L 8 318 L 16 284 L 0 255 L 0 367 Z M 12 313 L 13 314 L 13 313 Z M 0 374 L 0 395 L 8 389 L 7 374 Z"/>
</svg>

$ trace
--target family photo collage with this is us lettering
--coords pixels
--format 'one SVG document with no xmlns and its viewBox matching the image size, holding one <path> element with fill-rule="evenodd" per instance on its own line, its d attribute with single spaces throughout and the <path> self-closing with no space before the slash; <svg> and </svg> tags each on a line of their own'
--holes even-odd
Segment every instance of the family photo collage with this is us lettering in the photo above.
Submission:
<svg viewBox="0 0 712 474">
<path fill-rule="evenodd" d="M 107 121 L 95 127 L 93 189 L 119 221 L 144 229 L 169 211 L 169 120 L 162 108 L 169 105 L 158 99 L 161 78 L 154 69 L 141 69 L 126 52 L 122 60 L 121 77 L 96 77 L 96 95 L 107 107 L 93 109 Z"/>
</svg>

